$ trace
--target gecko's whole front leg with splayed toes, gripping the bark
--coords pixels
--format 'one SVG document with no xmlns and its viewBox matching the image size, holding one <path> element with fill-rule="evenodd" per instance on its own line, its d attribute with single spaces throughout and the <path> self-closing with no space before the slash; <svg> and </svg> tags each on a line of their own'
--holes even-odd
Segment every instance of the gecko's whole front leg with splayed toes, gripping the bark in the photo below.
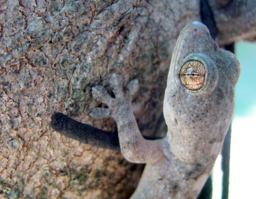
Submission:
<svg viewBox="0 0 256 199">
<path fill-rule="evenodd" d="M 102 86 L 93 88 L 93 97 L 108 105 L 108 108 L 94 108 L 90 115 L 95 118 L 112 117 L 116 121 L 120 148 L 126 160 L 136 163 L 157 162 L 164 156 L 160 141 L 146 140 L 141 136 L 131 107 L 132 97 L 138 90 L 138 81 L 131 81 L 127 86 L 128 91 L 124 93 L 122 78 L 113 74 L 110 85 L 115 98 Z"/>
</svg>

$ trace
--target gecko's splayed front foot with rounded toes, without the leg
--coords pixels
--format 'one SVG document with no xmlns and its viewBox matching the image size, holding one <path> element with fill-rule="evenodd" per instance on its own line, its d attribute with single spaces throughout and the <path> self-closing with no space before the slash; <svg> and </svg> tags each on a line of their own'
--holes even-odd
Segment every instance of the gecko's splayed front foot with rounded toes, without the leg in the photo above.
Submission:
<svg viewBox="0 0 256 199">
<path fill-rule="evenodd" d="M 97 85 L 93 87 L 93 98 L 106 104 L 108 108 L 93 108 L 90 116 L 96 119 L 112 117 L 115 120 L 119 115 L 123 115 L 123 111 L 131 109 L 131 102 L 134 94 L 138 91 L 138 80 L 132 80 L 127 85 L 127 91 L 123 92 L 123 81 L 120 75 L 114 73 L 110 77 L 110 86 L 113 89 L 115 98 L 104 89 L 103 86 Z"/>
</svg>

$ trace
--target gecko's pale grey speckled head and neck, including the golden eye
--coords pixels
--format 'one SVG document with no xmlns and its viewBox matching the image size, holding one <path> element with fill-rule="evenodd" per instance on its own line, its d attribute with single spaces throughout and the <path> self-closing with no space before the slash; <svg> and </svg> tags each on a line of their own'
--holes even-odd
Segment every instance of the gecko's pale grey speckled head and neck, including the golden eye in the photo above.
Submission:
<svg viewBox="0 0 256 199">
<path fill-rule="evenodd" d="M 163 106 L 170 148 L 180 160 L 216 158 L 233 113 L 239 72 L 237 58 L 218 47 L 205 25 L 193 22 L 181 31 Z"/>
</svg>

